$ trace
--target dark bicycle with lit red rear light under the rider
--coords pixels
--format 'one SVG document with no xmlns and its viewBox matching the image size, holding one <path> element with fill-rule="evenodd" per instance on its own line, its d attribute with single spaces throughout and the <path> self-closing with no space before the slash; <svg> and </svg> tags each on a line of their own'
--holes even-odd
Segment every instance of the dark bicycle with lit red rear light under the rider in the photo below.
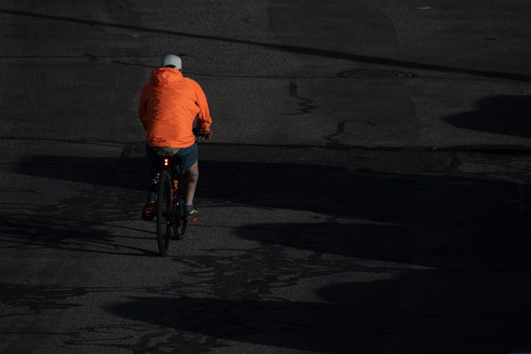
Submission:
<svg viewBox="0 0 531 354">
<path fill-rule="evenodd" d="M 212 135 L 210 130 L 193 132 L 201 140 L 209 139 Z M 157 190 L 156 240 L 162 257 L 168 254 L 171 235 L 173 234 L 174 239 L 183 239 L 188 228 L 184 202 L 181 202 L 179 193 L 179 182 L 183 180 L 184 171 L 175 164 L 174 157 L 157 156 L 154 161 L 154 166 L 159 170 L 153 181 Z"/>
</svg>

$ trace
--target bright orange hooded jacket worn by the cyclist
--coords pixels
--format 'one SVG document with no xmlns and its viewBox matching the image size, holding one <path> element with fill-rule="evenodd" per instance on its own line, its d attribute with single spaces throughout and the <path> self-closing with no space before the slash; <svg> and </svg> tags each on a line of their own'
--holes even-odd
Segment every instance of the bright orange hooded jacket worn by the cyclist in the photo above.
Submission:
<svg viewBox="0 0 531 354">
<path fill-rule="evenodd" d="M 201 86 L 169 67 L 152 72 L 140 95 L 138 116 L 146 130 L 147 144 L 152 147 L 190 147 L 195 143 L 195 117 L 199 129 L 212 123 Z"/>
</svg>

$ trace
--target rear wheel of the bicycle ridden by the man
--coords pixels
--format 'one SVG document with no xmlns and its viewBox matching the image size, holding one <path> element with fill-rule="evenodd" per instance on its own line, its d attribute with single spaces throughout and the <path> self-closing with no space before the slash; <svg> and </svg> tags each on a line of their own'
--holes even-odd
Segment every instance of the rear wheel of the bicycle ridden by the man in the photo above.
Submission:
<svg viewBox="0 0 531 354">
<path fill-rule="evenodd" d="M 171 195 L 170 175 L 168 171 L 162 171 L 159 181 L 159 194 L 156 200 L 156 241 L 159 244 L 161 256 L 168 254 L 171 238 Z"/>
</svg>

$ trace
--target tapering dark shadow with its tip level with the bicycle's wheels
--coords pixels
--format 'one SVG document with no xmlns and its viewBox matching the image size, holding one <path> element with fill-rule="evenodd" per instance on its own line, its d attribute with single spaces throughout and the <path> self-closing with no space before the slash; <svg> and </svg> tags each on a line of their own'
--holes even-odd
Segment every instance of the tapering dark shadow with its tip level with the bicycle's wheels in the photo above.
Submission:
<svg viewBox="0 0 531 354">
<path fill-rule="evenodd" d="M 509 216 L 509 215 L 508 215 Z M 356 259 L 458 270 L 529 265 L 523 217 L 478 224 L 275 223 L 236 230 L 243 239 Z M 525 261 L 523 261 L 525 260 Z"/>
</svg>

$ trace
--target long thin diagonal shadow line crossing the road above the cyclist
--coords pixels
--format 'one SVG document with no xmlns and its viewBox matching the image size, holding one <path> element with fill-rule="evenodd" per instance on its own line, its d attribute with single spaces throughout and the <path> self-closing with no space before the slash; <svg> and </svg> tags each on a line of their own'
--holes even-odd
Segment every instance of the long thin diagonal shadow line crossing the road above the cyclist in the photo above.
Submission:
<svg viewBox="0 0 531 354">
<path fill-rule="evenodd" d="M 148 27 L 142 27 L 142 26 L 137 26 L 137 25 L 124 25 L 120 23 L 108 23 L 108 22 L 103 22 L 103 21 L 83 20 L 80 18 L 70 18 L 70 17 L 64 17 L 64 16 L 43 15 L 41 13 L 32 13 L 32 12 L 26 12 L 26 11 L 0 9 L 0 13 L 5 13 L 8 15 L 17 15 L 17 16 L 29 16 L 29 17 L 35 17 L 35 18 L 45 18 L 47 20 L 64 21 L 64 22 L 71 22 L 71 23 L 84 23 L 87 25 L 101 25 L 105 27 L 124 28 L 127 30 L 138 30 L 138 31 L 149 32 L 149 33 L 161 33 L 165 35 L 180 35 L 183 37 L 198 38 L 202 40 L 215 40 L 217 42 L 229 42 L 229 43 L 237 43 L 237 44 L 242 44 L 242 45 L 253 45 L 256 47 L 264 47 L 264 48 L 268 48 L 271 50 L 279 50 L 281 52 L 292 52 L 292 53 L 303 54 L 303 55 L 312 55 L 316 57 L 329 57 L 329 58 L 335 58 L 335 59 L 344 59 L 344 60 L 350 60 L 353 62 L 362 62 L 362 63 L 367 63 L 367 64 L 377 64 L 377 65 L 385 65 L 385 66 L 392 66 L 392 67 L 403 67 L 403 68 L 409 68 L 409 69 L 420 69 L 420 70 L 428 70 L 428 71 L 433 71 L 433 72 L 454 72 L 454 73 L 459 73 L 459 74 L 469 74 L 469 75 L 474 75 L 474 76 L 490 77 L 493 79 L 531 82 L 531 75 L 527 75 L 527 74 L 517 74 L 517 73 L 511 73 L 511 72 L 492 72 L 488 70 L 462 69 L 462 68 L 457 68 L 457 67 L 447 67 L 445 65 L 424 64 L 424 63 L 408 62 L 405 60 L 389 59 L 389 58 L 383 58 L 383 57 L 356 55 L 356 54 L 351 54 L 351 53 L 346 53 L 346 52 L 337 52 L 334 50 L 321 50 L 318 48 L 311 48 L 311 47 L 299 47 L 297 45 L 281 45 L 281 44 L 267 43 L 267 42 L 255 42 L 251 40 L 239 40 L 235 38 L 218 37 L 215 35 L 200 35 L 197 33 L 186 33 L 186 32 L 181 32 L 181 31 L 174 31 L 174 30 L 161 30 L 157 28 L 148 28 Z"/>
</svg>

